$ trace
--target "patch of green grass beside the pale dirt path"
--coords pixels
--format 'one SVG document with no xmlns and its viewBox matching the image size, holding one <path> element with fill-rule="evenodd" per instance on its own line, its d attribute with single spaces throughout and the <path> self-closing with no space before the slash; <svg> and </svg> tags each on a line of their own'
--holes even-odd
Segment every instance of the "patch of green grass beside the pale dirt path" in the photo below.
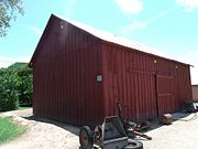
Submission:
<svg viewBox="0 0 198 149">
<path fill-rule="evenodd" d="M 12 117 L 0 118 L 0 143 L 13 140 L 25 130 L 25 127 L 14 124 Z"/>
</svg>

